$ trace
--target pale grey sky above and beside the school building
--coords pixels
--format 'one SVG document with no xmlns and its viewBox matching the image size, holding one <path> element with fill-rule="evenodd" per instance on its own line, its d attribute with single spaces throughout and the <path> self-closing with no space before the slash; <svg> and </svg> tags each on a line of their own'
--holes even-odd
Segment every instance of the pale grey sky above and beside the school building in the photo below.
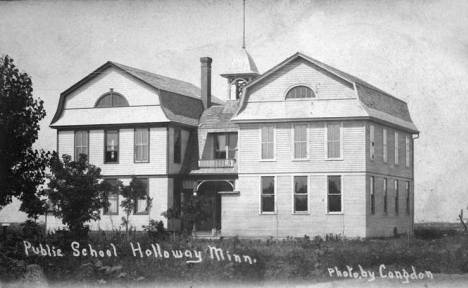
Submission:
<svg viewBox="0 0 468 288">
<path fill-rule="evenodd" d="M 406 101 L 415 140 L 415 220 L 455 222 L 468 209 L 468 2 L 246 1 L 246 46 L 263 73 L 296 52 Z M 56 149 L 49 124 L 61 92 L 107 61 L 199 86 L 213 58 L 213 94 L 242 46 L 242 0 L 0 2 L 0 55 L 45 102 L 35 146 Z M 465 215 L 468 211 L 465 211 Z"/>
</svg>

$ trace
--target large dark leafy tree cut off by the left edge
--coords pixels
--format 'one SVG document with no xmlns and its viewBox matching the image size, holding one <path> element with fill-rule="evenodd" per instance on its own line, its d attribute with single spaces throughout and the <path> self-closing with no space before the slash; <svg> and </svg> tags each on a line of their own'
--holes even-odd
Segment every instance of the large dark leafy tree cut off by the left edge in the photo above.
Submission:
<svg viewBox="0 0 468 288">
<path fill-rule="evenodd" d="M 29 75 L 19 72 L 10 57 L 0 58 L 0 209 L 16 197 L 20 210 L 37 219 L 45 211 L 38 189 L 51 154 L 32 149 L 46 116 L 44 102 L 32 91 Z"/>
</svg>

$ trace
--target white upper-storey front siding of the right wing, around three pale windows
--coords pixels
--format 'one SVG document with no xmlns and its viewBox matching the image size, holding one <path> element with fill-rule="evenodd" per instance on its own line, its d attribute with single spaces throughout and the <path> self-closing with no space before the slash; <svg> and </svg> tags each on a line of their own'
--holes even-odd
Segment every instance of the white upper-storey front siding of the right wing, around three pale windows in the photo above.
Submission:
<svg viewBox="0 0 468 288">
<path fill-rule="evenodd" d="M 291 124 L 276 124 L 275 161 L 260 161 L 261 125 L 241 124 L 239 169 L 242 173 L 362 172 L 365 169 L 364 124 L 343 122 L 343 160 L 326 159 L 325 122 L 308 124 L 308 159 L 293 160 Z"/>
</svg>

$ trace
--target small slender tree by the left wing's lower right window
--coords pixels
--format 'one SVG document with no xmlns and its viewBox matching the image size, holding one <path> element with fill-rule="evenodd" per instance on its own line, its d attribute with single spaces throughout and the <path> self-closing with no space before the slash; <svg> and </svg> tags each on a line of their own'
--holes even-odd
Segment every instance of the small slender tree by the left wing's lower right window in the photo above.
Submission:
<svg viewBox="0 0 468 288">
<path fill-rule="evenodd" d="M 135 210 L 137 199 L 146 199 L 146 209 L 151 208 L 152 199 L 146 195 L 146 185 L 140 179 L 132 176 L 130 184 L 120 185 L 120 195 L 124 198 L 120 206 L 124 209 L 125 216 L 122 217 L 122 225 L 125 226 L 125 231 L 128 232 L 130 224 L 130 214 Z"/>
</svg>

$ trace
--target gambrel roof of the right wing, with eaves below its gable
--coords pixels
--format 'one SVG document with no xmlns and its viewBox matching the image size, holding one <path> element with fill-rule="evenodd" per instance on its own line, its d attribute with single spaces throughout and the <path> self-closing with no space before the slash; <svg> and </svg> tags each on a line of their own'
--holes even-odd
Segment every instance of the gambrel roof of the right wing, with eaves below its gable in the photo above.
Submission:
<svg viewBox="0 0 468 288">
<path fill-rule="evenodd" d="M 249 115 L 240 115 L 242 114 L 242 111 L 244 110 L 245 108 L 245 105 L 246 105 L 246 101 L 248 99 L 248 91 L 251 87 L 255 86 L 256 84 L 258 84 L 259 82 L 263 81 L 264 79 L 266 79 L 267 77 L 269 77 L 270 75 L 274 74 L 276 71 L 280 70 L 282 67 L 284 67 L 285 65 L 287 65 L 288 63 L 298 59 L 298 58 L 302 58 L 304 59 L 305 61 L 308 61 L 310 63 L 312 63 L 313 65 L 327 71 L 328 73 L 331 73 L 337 77 L 339 77 L 340 79 L 343 79 L 345 80 L 346 82 L 349 82 L 353 89 L 356 91 L 356 95 L 357 95 L 357 98 L 358 98 L 358 102 L 356 104 L 360 105 L 362 108 L 361 110 L 363 111 L 360 111 L 359 109 L 356 110 L 358 111 L 359 113 L 355 113 L 355 112 L 352 112 L 352 110 L 349 110 L 349 109 L 346 109 L 346 113 L 342 114 L 342 118 L 343 117 L 346 117 L 346 118 L 352 118 L 352 117 L 357 117 L 357 118 L 370 118 L 370 119 L 375 119 L 377 121 L 384 121 L 384 122 L 387 122 L 387 123 L 390 123 L 390 124 L 394 124 L 394 125 L 397 125 L 403 129 L 406 129 L 406 130 L 409 130 L 413 133 L 419 133 L 419 131 L 417 130 L 416 126 L 414 125 L 414 123 L 412 122 L 411 120 L 411 117 L 410 117 L 410 114 L 409 114 L 409 110 L 408 110 L 408 105 L 406 104 L 406 102 L 388 94 L 387 92 L 365 82 L 364 80 L 361 80 L 359 79 L 358 77 L 355 77 L 355 76 L 352 76 L 348 73 L 345 73 L 343 71 L 340 71 L 336 68 L 333 68 L 327 64 L 324 64 L 314 58 L 311 58 L 309 56 L 306 56 L 300 52 L 297 52 L 295 53 L 294 55 L 292 55 L 291 57 L 285 59 L 284 61 L 282 61 L 281 63 L 279 63 L 278 65 L 274 66 L 273 68 L 271 68 L 270 70 L 268 70 L 267 72 L 265 72 L 263 75 L 261 75 L 260 77 L 256 78 L 254 81 L 252 81 L 251 83 L 249 83 L 244 91 L 243 91 L 243 95 L 242 95 L 242 100 L 241 100 L 241 103 L 236 111 L 236 113 L 234 113 L 234 116 L 233 116 L 233 121 L 236 123 L 236 122 L 248 122 L 249 119 L 253 120 L 253 121 L 262 121 L 262 120 L 269 120 L 269 121 L 274 121 L 275 119 L 275 116 L 273 116 L 272 113 L 269 113 L 268 112 L 265 112 L 267 113 L 268 115 L 264 115 L 262 116 L 261 114 L 261 111 L 265 111 L 265 109 L 260 109 L 260 107 L 256 107 L 255 104 L 260 104 L 260 103 L 249 103 L 250 106 L 252 106 L 252 111 L 250 111 L 248 114 Z M 342 103 L 339 103 L 339 102 L 343 102 L 342 99 L 326 99 L 324 101 L 328 101 L 330 102 L 329 104 L 332 104 L 334 103 L 333 105 L 338 105 L 338 104 L 342 104 Z M 267 108 L 268 106 L 268 103 L 261 103 L 263 105 L 263 108 Z M 326 103 L 320 103 L 322 104 L 322 106 L 327 106 L 328 104 Z M 350 103 L 352 104 L 352 103 Z M 273 104 L 272 104 L 273 105 Z M 289 105 L 283 105 L 282 107 L 278 107 L 279 104 L 276 104 L 275 107 L 271 107 L 271 111 L 279 111 L 281 109 L 285 109 L 285 110 L 288 110 L 286 108 L 288 107 L 283 107 L 283 106 L 294 106 L 293 104 L 289 104 Z M 348 104 L 347 104 L 348 105 Z M 331 106 L 330 106 L 331 107 Z M 351 106 L 348 106 L 349 108 Z M 305 118 L 304 117 L 299 117 L 299 114 L 297 114 L 295 111 L 299 111 L 299 107 L 293 107 L 294 109 L 291 110 L 291 111 L 283 111 L 284 113 L 282 113 L 282 116 L 280 116 L 280 118 L 288 118 L 290 120 L 294 120 L 295 118 L 300 118 L 302 120 L 304 120 Z M 328 109 L 328 108 L 327 108 Z M 328 110 L 329 111 L 329 110 Z M 319 110 L 316 110 L 316 111 L 310 111 L 310 115 L 315 115 L 315 116 L 309 116 L 309 117 L 306 117 L 306 118 L 309 118 L 309 119 L 313 119 L 313 118 L 327 118 L 327 113 L 329 114 L 329 112 L 327 111 L 321 111 L 320 109 Z M 313 113 L 312 113 L 313 112 Z M 317 113 L 317 112 L 323 112 L 323 113 Z M 264 113 L 264 114 L 265 114 Z M 351 114 L 352 115 L 351 115 Z M 278 114 L 278 113 L 277 113 Z M 323 114 L 323 115 L 322 115 Z M 297 117 L 296 117 L 297 115 Z M 262 118 L 263 117 L 263 118 Z M 270 117 L 270 119 L 268 119 Z M 332 116 L 329 116 L 329 117 L 332 117 Z M 336 117 L 336 115 L 334 116 Z M 332 118 L 334 118 L 332 117 Z"/>
</svg>

